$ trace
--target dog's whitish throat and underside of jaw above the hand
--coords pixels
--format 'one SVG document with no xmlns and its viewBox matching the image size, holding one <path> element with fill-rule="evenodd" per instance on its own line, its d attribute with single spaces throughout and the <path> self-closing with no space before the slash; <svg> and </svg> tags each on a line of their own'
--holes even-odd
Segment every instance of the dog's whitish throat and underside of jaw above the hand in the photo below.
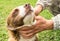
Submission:
<svg viewBox="0 0 60 41">
<path fill-rule="evenodd" d="M 32 25 L 34 22 L 34 16 L 34 13 L 27 15 L 23 20 L 24 25 Z"/>
</svg>

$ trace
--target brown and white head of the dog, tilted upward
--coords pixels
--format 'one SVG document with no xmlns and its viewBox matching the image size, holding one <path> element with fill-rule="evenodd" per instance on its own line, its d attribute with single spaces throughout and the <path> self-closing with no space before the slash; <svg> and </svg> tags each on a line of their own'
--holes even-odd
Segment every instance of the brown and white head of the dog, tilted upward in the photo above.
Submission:
<svg viewBox="0 0 60 41">
<path fill-rule="evenodd" d="M 30 6 L 30 4 L 25 4 L 23 6 L 16 7 L 12 10 L 11 14 L 7 19 L 8 26 L 15 28 L 24 25 L 26 21 L 31 20 L 30 18 L 32 18 L 32 12 L 33 8 L 32 6 Z"/>
</svg>

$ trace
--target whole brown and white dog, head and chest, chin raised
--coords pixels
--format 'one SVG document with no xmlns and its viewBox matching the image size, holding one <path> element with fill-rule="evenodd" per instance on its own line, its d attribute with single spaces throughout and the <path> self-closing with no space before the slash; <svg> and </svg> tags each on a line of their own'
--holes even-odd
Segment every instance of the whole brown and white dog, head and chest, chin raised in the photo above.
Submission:
<svg viewBox="0 0 60 41">
<path fill-rule="evenodd" d="M 7 18 L 7 28 L 9 32 L 8 41 L 37 41 L 36 36 L 25 39 L 19 32 L 20 28 L 33 24 L 35 16 L 33 11 L 33 8 L 29 4 L 19 6 L 12 10 Z"/>
</svg>

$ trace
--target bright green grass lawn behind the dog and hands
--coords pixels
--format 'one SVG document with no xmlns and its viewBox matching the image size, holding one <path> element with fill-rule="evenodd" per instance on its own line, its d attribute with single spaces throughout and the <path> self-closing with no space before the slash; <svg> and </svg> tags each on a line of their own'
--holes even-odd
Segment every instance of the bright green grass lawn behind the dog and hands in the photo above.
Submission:
<svg viewBox="0 0 60 41">
<path fill-rule="evenodd" d="M 11 10 L 25 3 L 30 3 L 33 7 L 37 0 L 0 0 L 0 41 L 7 41 L 8 33 L 6 29 L 6 19 Z M 51 19 L 53 16 L 47 9 L 40 16 Z M 46 30 L 39 33 L 39 41 L 60 41 L 60 30 Z"/>
</svg>

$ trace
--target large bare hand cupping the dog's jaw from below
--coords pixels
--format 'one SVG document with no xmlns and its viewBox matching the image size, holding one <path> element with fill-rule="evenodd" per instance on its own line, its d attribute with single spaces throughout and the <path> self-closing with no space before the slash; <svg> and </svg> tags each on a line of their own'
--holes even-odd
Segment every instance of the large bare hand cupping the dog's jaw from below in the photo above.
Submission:
<svg viewBox="0 0 60 41">
<path fill-rule="evenodd" d="M 38 32 L 41 32 L 41 31 L 47 30 L 47 29 L 52 29 L 51 20 L 47 20 L 41 16 L 37 16 L 37 17 L 35 17 L 35 19 L 36 19 L 35 25 L 32 25 L 30 27 L 27 26 L 26 28 L 24 27 L 20 30 L 20 34 L 24 38 L 31 38 Z"/>
</svg>

